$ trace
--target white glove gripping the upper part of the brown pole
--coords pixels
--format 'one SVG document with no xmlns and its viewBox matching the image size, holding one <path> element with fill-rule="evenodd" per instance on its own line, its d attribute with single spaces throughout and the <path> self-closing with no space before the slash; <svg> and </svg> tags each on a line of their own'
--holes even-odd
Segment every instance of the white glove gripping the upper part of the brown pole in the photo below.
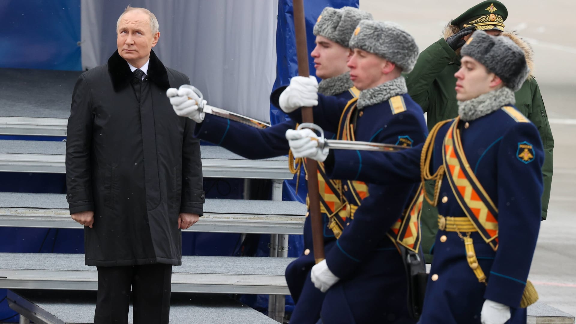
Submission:
<svg viewBox="0 0 576 324">
<path fill-rule="evenodd" d="M 318 106 L 318 80 L 316 77 L 293 77 L 290 85 L 278 99 L 282 111 L 289 114 L 300 107 Z"/>
</svg>

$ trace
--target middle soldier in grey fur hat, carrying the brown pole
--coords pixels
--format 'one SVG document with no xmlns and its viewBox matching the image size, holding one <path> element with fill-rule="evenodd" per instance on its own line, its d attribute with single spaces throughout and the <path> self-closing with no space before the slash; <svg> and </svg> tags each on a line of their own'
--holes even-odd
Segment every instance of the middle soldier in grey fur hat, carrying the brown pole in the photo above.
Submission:
<svg viewBox="0 0 576 324">
<path fill-rule="evenodd" d="M 317 94 L 304 77 L 294 77 L 279 96 L 278 106 L 300 121 L 298 107 L 313 106 L 314 122 L 340 140 L 412 146 L 423 143 L 426 123 L 422 109 L 407 95 L 401 72 L 410 72 L 418 57 L 412 36 L 391 22 L 362 20 L 350 39 L 354 55 L 348 62 L 358 99 L 339 100 Z M 295 157 L 324 161 L 327 152 L 317 149 L 310 129 L 287 130 Z M 312 145 L 312 147 L 310 146 Z M 313 154 L 308 154 L 312 152 Z M 354 152 L 354 154 L 357 154 Z M 336 177 L 332 177 L 338 179 Z M 331 323 L 413 323 L 407 306 L 407 276 L 397 244 L 418 251 L 418 231 L 406 233 L 401 226 L 418 227 L 412 221 L 415 184 L 381 186 L 343 178 L 343 194 L 356 199 L 358 208 L 345 221 L 336 247 L 312 268 L 312 281 L 327 291 L 321 321 Z M 411 231 L 408 231 L 411 232 Z"/>
</svg>

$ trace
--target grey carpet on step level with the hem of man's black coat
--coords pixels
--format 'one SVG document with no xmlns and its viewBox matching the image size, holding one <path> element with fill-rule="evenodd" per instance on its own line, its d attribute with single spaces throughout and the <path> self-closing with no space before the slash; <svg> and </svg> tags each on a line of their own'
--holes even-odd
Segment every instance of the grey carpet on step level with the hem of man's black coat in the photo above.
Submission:
<svg viewBox="0 0 576 324">
<path fill-rule="evenodd" d="M 184 255 L 182 265 L 174 266 L 172 273 L 284 276 L 291 261 L 294 258 Z M 84 265 L 84 254 L 0 253 L 0 269 L 96 272 L 96 267 Z"/>
</svg>

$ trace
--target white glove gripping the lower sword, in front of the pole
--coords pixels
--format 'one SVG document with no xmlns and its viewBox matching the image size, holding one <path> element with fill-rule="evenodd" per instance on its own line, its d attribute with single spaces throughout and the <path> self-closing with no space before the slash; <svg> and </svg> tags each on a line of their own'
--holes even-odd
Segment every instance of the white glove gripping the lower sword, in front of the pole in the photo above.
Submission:
<svg viewBox="0 0 576 324">
<path fill-rule="evenodd" d="M 307 157 L 324 162 L 328 156 L 329 149 L 323 148 L 324 139 L 311 129 L 289 129 L 286 131 L 286 140 L 294 157 Z"/>
</svg>

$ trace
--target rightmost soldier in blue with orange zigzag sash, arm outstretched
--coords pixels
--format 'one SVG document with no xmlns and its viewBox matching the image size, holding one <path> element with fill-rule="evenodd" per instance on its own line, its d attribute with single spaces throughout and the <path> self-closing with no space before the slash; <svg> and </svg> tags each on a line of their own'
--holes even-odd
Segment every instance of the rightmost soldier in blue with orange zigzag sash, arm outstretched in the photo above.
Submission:
<svg viewBox="0 0 576 324">
<path fill-rule="evenodd" d="M 528 74 L 507 37 L 476 31 L 454 76 L 458 117 L 398 153 L 334 151 L 328 173 L 375 183 L 436 180 L 434 261 L 420 323 L 526 323 L 527 280 L 540 228 L 543 145 L 516 108 Z M 318 150 L 318 149 L 317 149 Z"/>
</svg>

